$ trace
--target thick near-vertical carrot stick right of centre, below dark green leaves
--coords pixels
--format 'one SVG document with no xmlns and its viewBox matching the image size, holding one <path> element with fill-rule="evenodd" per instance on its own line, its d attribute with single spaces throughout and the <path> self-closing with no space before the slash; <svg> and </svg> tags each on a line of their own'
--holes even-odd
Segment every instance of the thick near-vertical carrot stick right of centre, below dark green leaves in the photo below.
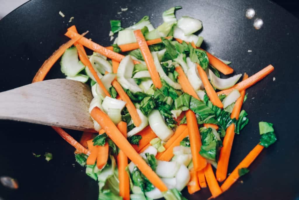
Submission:
<svg viewBox="0 0 299 200">
<path fill-rule="evenodd" d="M 192 110 L 187 110 L 186 119 L 193 160 L 193 169 L 194 171 L 199 171 L 204 169 L 205 166 L 207 166 L 207 160 L 205 160 L 205 158 L 203 158 L 199 154 L 200 147 L 202 146 L 202 141 L 200 138 L 195 113 Z"/>
</svg>

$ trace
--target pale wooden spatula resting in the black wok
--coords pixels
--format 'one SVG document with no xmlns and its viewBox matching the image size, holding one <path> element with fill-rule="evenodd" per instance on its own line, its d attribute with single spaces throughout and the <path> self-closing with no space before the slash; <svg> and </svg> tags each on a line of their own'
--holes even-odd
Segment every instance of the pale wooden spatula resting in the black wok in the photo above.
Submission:
<svg viewBox="0 0 299 200">
<path fill-rule="evenodd" d="M 0 119 L 92 131 L 88 85 L 68 79 L 36 82 L 0 93 Z"/>
</svg>

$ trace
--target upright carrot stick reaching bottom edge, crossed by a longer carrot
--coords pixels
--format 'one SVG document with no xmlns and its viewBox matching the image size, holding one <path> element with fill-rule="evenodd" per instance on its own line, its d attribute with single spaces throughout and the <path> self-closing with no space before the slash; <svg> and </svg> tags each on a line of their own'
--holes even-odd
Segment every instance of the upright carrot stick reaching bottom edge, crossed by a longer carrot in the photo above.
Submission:
<svg viewBox="0 0 299 200">
<path fill-rule="evenodd" d="M 117 124 L 118 130 L 127 137 L 127 124 L 126 122 L 121 121 Z M 129 175 L 126 172 L 126 166 L 128 165 L 128 157 L 123 151 L 119 151 L 117 155 L 117 166 L 118 166 L 118 180 L 119 180 L 119 196 L 123 200 L 130 200 L 130 183 Z"/>
</svg>

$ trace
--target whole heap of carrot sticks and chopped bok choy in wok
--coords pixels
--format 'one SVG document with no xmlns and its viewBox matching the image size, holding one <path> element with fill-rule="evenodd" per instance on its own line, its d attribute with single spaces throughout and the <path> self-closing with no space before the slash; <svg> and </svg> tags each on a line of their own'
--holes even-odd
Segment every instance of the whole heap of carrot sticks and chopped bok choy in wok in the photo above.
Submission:
<svg viewBox="0 0 299 200">
<path fill-rule="evenodd" d="M 239 83 L 242 74 L 220 78 L 220 73 L 234 72 L 230 62 L 199 48 L 203 37 L 196 32 L 202 22 L 188 16 L 177 20 L 179 9 L 164 11 L 157 28 L 148 16 L 127 28 L 111 20 L 111 33 L 118 37 L 108 47 L 71 26 L 65 33 L 71 40 L 33 79 L 42 81 L 61 57 L 67 79 L 90 84 L 94 99 L 89 112 L 98 134 L 85 132 L 77 142 L 53 128 L 76 148 L 76 161 L 98 182 L 98 199 L 179 200 L 185 199 L 185 187 L 193 194 L 207 186 L 216 198 L 277 140 L 273 124 L 260 122 L 259 144 L 227 177 L 234 136 L 249 121 L 241 110 L 245 89 L 274 67 L 249 78 L 245 73 Z"/>
</svg>

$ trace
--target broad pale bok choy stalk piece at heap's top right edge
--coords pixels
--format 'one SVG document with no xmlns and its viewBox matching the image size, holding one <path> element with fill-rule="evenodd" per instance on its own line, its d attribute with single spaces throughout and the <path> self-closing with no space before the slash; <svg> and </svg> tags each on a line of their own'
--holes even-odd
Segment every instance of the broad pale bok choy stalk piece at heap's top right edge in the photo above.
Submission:
<svg viewBox="0 0 299 200">
<path fill-rule="evenodd" d="M 202 21 L 188 16 L 179 19 L 177 26 L 182 29 L 184 35 L 190 35 L 202 28 Z"/>
</svg>

